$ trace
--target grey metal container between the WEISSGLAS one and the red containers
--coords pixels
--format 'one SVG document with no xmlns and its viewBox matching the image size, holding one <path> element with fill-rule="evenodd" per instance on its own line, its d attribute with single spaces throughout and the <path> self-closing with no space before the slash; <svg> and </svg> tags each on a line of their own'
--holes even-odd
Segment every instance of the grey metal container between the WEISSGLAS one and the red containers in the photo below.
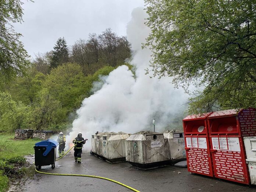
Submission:
<svg viewBox="0 0 256 192">
<path fill-rule="evenodd" d="M 170 147 L 170 164 L 186 160 L 184 133 L 176 130 L 167 130 L 163 134 Z"/>
</svg>

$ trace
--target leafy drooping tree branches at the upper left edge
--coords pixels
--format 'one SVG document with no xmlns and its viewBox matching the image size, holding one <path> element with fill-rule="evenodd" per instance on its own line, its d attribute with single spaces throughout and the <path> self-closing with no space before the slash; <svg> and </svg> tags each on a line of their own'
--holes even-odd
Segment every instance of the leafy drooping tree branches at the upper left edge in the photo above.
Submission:
<svg viewBox="0 0 256 192">
<path fill-rule="evenodd" d="M 22 22 L 23 3 L 19 0 L 0 1 L 0 76 L 2 81 L 22 74 L 29 64 L 28 53 L 16 33 L 12 23 Z"/>
</svg>

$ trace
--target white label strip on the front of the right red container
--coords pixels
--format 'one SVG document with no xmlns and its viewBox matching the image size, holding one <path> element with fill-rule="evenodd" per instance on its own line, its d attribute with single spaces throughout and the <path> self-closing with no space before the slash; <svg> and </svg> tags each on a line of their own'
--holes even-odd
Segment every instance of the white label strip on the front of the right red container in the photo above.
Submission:
<svg viewBox="0 0 256 192">
<path fill-rule="evenodd" d="M 238 137 L 228 137 L 228 142 L 225 137 L 212 137 L 211 142 L 213 144 L 213 149 L 237 152 L 241 151 Z"/>
</svg>

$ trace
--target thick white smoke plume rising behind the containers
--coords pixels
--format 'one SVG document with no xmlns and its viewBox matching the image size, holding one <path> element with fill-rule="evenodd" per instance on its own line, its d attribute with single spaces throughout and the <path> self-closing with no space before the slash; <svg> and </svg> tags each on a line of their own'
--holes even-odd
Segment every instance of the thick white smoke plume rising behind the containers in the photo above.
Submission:
<svg viewBox="0 0 256 192">
<path fill-rule="evenodd" d="M 84 147 L 90 150 L 90 138 L 96 131 L 133 134 L 153 130 L 153 118 L 156 119 L 156 131 L 163 131 L 177 115 L 184 113 L 185 107 L 181 105 L 187 96 L 182 89 L 174 89 L 170 77 L 158 79 L 145 75 L 152 54 L 149 49 L 141 48 L 150 32 L 144 24 L 145 18 L 147 14 L 143 8 L 135 8 L 127 25 L 127 38 L 134 53 L 130 64 L 135 66 L 135 77 L 126 65 L 122 65 L 104 78 L 101 89 L 96 83 L 97 91 L 85 98 L 77 110 L 78 118 L 73 122 L 67 141 L 82 132 L 83 138 L 89 139 Z"/>
</svg>

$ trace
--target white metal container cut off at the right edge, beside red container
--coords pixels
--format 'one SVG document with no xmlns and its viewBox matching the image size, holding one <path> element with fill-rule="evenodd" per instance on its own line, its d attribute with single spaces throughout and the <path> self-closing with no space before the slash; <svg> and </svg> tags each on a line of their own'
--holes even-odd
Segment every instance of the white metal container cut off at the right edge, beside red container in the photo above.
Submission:
<svg viewBox="0 0 256 192">
<path fill-rule="evenodd" d="M 246 162 L 248 162 L 250 181 L 251 184 L 256 185 L 256 137 L 244 137 L 243 141 L 245 144 Z"/>
</svg>

